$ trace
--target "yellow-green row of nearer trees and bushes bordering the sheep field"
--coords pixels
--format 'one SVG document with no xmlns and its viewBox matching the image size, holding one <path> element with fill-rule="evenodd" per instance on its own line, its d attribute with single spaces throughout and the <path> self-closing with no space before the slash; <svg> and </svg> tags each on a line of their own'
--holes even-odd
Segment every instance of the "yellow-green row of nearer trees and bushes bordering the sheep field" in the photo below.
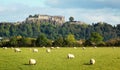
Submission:
<svg viewBox="0 0 120 70">
<path fill-rule="evenodd" d="M 39 35 L 37 38 L 29 38 L 16 36 L 9 40 L 4 39 L 0 42 L 1 47 L 88 47 L 88 46 L 99 46 L 99 47 L 111 47 L 120 46 L 120 39 L 111 39 L 104 42 L 103 37 L 97 33 L 91 33 L 91 37 L 88 40 L 76 40 L 74 35 L 69 34 L 66 38 L 58 37 L 55 40 L 50 40 L 45 34 Z"/>
</svg>

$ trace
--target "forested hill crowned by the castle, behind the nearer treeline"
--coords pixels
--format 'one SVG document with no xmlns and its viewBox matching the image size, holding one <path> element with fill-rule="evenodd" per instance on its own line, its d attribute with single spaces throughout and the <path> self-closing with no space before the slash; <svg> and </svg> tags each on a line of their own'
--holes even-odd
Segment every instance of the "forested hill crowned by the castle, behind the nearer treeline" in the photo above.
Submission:
<svg viewBox="0 0 120 70">
<path fill-rule="evenodd" d="M 63 16 L 50 15 L 29 15 L 22 22 L 10 24 L 10 22 L 0 23 L 0 37 L 37 37 L 41 33 L 45 34 L 48 39 L 55 40 L 58 37 L 66 37 L 73 34 L 77 40 L 89 39 L 92 32 L 101 34 L 104 41 L 120 37 L 120 24 L 112 26 L 105 22 L 86 24 L 81 21 L 74 21 L 74 17 L 65 21 Z"/>
</svg>

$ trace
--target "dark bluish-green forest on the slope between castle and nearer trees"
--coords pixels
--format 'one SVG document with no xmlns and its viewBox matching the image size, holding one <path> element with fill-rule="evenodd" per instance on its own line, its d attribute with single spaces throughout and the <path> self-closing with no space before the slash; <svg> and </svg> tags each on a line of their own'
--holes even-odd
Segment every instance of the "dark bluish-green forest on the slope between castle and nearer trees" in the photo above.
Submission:
<svg viewBox="0 0 120 70">
<path fill-rule="evenodd" d="M 75 39 L 89 39 L 92 32 L 98 32 L 107 41 L 120 37 L 120 24 L 112 26 L 107 23 L 71 24 L 66 22 L 63 25 L 54 25 L 51 23 L 0 23 L 0 37 L 10 38 L 13 36 L 37 38 L 41 33 L 48 39 L 55 40 L 62 36 L 65 38 L 68 34 L 73 34 Z"/>
</svg>

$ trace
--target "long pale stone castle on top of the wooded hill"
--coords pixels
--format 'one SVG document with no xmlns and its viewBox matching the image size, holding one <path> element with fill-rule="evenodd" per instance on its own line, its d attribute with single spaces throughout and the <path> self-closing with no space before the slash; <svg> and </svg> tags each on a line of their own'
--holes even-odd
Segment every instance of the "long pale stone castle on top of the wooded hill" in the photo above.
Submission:
<svg viewBox="0 0 120 70">
<path fill-rule="evenodd" d="M 50 16 L 50 15 L 29 15 L 28 18 L 26 18 L 27 23 L 36 23 L 36 22 L 49 22 L 53 24 L 60 24 L 62 25 L 65 22 L 65 17 L 63 16 Z"/>
</svg>

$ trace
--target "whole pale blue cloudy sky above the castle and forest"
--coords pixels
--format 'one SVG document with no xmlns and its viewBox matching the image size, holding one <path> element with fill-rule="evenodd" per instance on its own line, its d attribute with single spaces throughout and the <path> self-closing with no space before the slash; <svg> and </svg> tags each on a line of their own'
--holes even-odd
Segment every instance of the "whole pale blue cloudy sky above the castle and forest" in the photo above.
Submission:
<svg viewBox="0 0 120 70">
<path fill-rule="evenodd" d="M 29 15 L 74 17 L 88 24 L 120 24 L 120 0 L 0 0 L 0 22 L 24 21 Z"/>
</svg>

